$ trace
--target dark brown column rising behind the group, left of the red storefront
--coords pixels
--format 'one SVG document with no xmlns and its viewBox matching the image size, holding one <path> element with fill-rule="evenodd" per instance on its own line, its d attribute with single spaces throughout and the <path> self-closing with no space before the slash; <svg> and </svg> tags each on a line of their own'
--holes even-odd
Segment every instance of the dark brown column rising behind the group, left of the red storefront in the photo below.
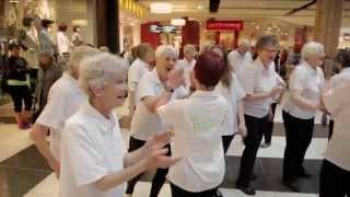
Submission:
<svg viewBox="0 0 350 197">
<path fill-rule="evenodd" d="M 98 0 L 96 3 L 97 46 L 119 53 L 119 1 Z"/>
</svg>

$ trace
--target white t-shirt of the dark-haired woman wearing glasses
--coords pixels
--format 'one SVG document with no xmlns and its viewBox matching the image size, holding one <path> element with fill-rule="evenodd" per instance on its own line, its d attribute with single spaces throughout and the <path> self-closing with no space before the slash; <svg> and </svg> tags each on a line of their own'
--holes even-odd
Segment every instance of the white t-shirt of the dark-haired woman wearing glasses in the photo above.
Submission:
<svg viewBox="0 0 350 197">
<path fill-rule="evenodd" d="M 252 63 L 247 63 L 242 71 L 242 76 L 244 78 L 240 82 L 246 94 L 267 93 L 279 83 L 279 76 L 275 71 L 275 62 L 272 61 L 268 69 L 265 69 L 259 58 Z M 265 117 L 269 113 L 271 103 L 273 103 L 271 97 L 259 101 L 244 101 L 244 114 L 258 118 Z"/>
</svg>

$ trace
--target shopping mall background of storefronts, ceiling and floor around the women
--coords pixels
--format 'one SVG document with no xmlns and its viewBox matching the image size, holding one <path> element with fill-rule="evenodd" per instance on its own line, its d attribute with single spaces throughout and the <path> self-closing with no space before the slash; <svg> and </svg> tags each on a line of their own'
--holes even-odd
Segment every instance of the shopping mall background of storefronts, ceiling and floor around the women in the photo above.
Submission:
<svg viewBox="0 0 350 197">
<path fill-rule="evenodd" d="M 43 69 L 38 58 L 42 58 L 44 53 L 40 50 L 40 39 L 31 32 L 40 32 L 43 20 L 49 21 L 47 32 L 52 46 L 58 49 L 51 55 L 51 60 L 59 67 L 67 67 L 69 55 L 74 47 L 79 47 L 78 45 L 109 51 L 130 62 L 132 49 L 141 43 L 150 44 L 154 50 L 161 45 L 172 45 L 180 59 L 184 57 L 183 50 L 186 45 L 192 45 L 198 55 L 207 45 L 220 45 L 226 51 L 233 51 L 242 40 L 248 44 L 249 50 L 254 54 L 260 36 L 273 35 L 279 40 L 276 50 L 280 53 L 280 59 L 275 59 L 275 63 L 280 65 L 276 70 L 284 81 L 288 82 L 291 71 L 288 55 L 282 62 L 282 51 L 300 55 L 303 46 L 311 40 L 324 46 L 325 57 L 322 67 L 327 81 L 334 76 L 337 67 L 337 54 L 341 49 L 350 51 L 350 0 L 1 0 L 0 197 L 60 196 L 59 178 L 31 136 L 34 124 L 20 126 L 13 97 L 3 86 L 10 84 L 5 78 L 5 68 L 10 66 L 10 50 L 13 43 L 19 43 L 21 56 L 32 70 L 26 74 L 34 101 L 28 114 L 31 121 L 37 112 L 36 85 L 39 83 L 36 78 Z M 65 31 L 61 31 L 62 26 Z M 67 50 L 58 46 L 59 34 L 62 32 L 69 43 Z M 32 43 L 25 43 L 27 38 L 32 38 Z M 282 182 L 287 143 L 282 117 L 283 95 L 278 101 L 272 118 L 271 141 L 266 147 L 260 146 L 257 151 L 253 170 L 255 177 L 252 178 L 250 185 L 256 189 L 255 196 L 258 197 L 319 196 L 320 169 L 324 152 L 329 143 L 330 117 L 322 111 L 316 112 L 312 141 L 303 161 L 310 176 L 298 178 L 298 189 L 291 189 L 290 185 Z M 125 152 L 128 151 L 132 119 L 129 101 L 126 99 L 121 106 L 114 109 L 119 120 Z M 50 143 L 49 137 L 47 143 Z M 349 146 L 343 149 L 350 150 Z M 240 135 L 235 135 L 224 155 L 224 179 L 218 186 L 224 197 L 247 196 L 246 190 L 243 192 L 244 189 L 237 188 L 236 185 L 244 150 L 244 140 Z M 347 173 L 347 187 L 350 188 L 350 172 Z M 154 171 L 149 171 L 141 177 L 132 197 L 149 196 L 153 175 Z M 170 181 L 166 181 L 159 197 L 172 196 L 170 185 Z M 350 195 L 349 189 L 347 194 Z"/>
</svg>

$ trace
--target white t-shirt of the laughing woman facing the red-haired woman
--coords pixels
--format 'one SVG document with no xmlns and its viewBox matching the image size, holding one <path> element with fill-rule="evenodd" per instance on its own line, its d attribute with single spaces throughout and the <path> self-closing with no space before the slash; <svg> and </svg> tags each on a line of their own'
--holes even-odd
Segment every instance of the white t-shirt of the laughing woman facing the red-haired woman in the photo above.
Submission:
<svg viewBox="0 0 350 197">
<path fill-rule="evenodd" d="M 141 99 L 145 96 L 161 96 L 165 91 L 164 84 L 160 81 L 156 69 L 145 73 L 137 92 L 137 107 L 131 119 L 131 136 L 139 140 L 148 140 L 154 134 L 165 131 L 166 123 L 163 123 L 156 113 L 150 112 Z M 183 97 L 187 94 L 184 86 L 174 90 L 172 100 Z"/>
</svg>

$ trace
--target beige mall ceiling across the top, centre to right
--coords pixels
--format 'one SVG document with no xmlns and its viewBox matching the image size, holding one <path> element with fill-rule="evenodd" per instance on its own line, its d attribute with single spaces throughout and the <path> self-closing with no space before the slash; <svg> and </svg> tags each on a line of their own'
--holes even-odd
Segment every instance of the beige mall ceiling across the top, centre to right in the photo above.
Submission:
<svg viewBox="0 0 350 197">
<path fill-rule="evenodd" d="M 184 18 L 197 21 L 206 21 L 210 18 L 221 20 L 249 21 L 280 21 L 295 25 L 311 25 L 315 23 L 315 4 L 298 11 L 291 15 L 293 9 L 303 7 L 312 0 L 221 0 L 217 13 L 209 12 L 209 0 L 166 0 L 173 4 L 171 14 L 150 14 L 148 20 L 170 20 Z M 145 7 L 160 0 L 139 0 Z M 342 27 L 350 27 L 350 0 L 345 0 L 342 13 Z"/>
</svg>

